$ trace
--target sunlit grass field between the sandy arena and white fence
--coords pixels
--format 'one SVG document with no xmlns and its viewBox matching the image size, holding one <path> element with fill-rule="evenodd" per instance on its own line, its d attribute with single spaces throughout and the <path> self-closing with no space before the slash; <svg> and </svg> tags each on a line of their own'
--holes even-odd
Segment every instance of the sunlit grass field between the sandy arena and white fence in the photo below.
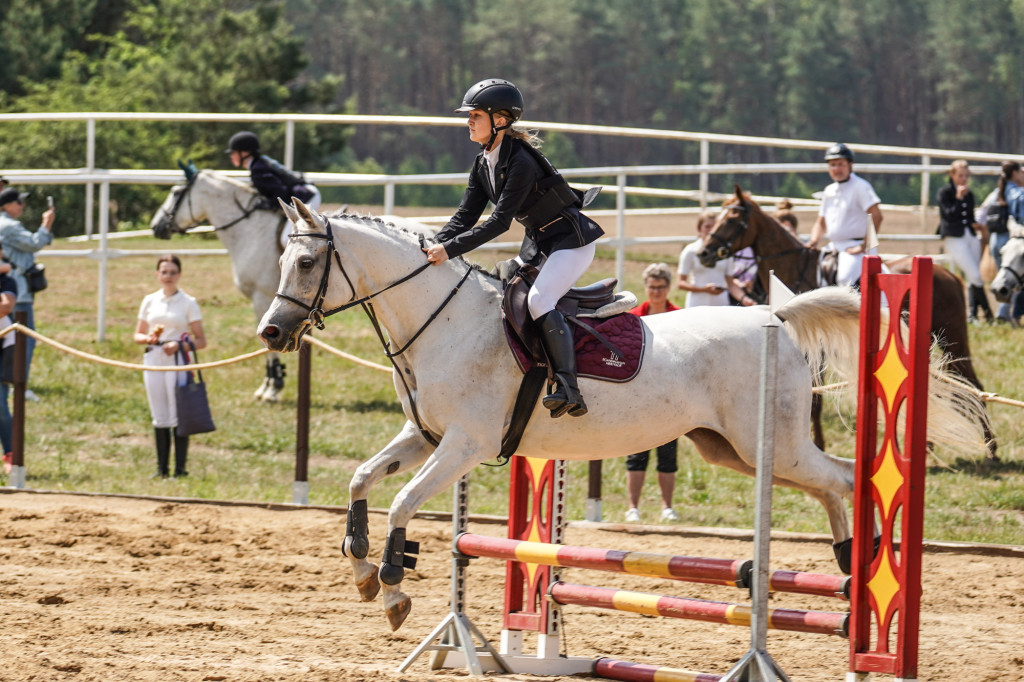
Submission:
<svg viewBox="0 0 1024 682">
<path fill-rule="evenodd" d="M 119 249 L 194 249 L 219 247 L 212 237 L 118 241 Z M 58 244 L 54 248 L 78 248 Z M 80 248 L 89 248 L 81 246 Z M 477 260 L 489 265 L 498 256 Z M 627 261 L 625 287 L 642 292 L 640 271 L 664 253 L 635 253 Z M 50 288 L 37 297 L 38 330 L 68 345 L 104 357 L 141 361 L 131 341 L 142 297 L 158 288 L 153 257 L 111 261 L 105 341 L 96 340 L 97 266 L 79 259 L 47 261 Z M 204 361 L 232 357 L 261 347 L 249 303 L 234 289 L 226 257 L 183 258 L 181 286 L 197 296 L 204 314 L 209 347 Z M 614 272 L 613 254 L 599 252 L 591 268 L 594 280 Z M 674 300 L 681 301 L 677 294 Z M 1024 330 L 972 328 L 974 360 L 986 389 L 1024 398 L 1024 363 L 1019 357 Z M 317 334 L 327 343 L 366 359 L 386 365 L 368 321 L 359 312 L 330 318 Z M 351 472 L 383 446 L 404 421 L 389 374 L 366 369 L 325 352 L 313 351 L 309 483 L 310 502 L 347 503 Z M 193 438 L 188 470 L 181 479 L 151 479 L 156 468 L 153 431 L 141 376 L 83 361 L 41 345 L 33 364 L 32 388 L 40 402 L 27 408 L 26 465 L 33 488 L 131 493 L 260 502 L 290 502 L 294 471 L 297 357 L 286 358 L 288 386 L 279 404 L 256 403 L 252 392 L 263 374 L 263 358 L 204 373 L 217 431 Z M 1017 409 L 992 408 L 1001 461 L 956 458 L 937 452 L 929 470 L 925 535 L 933 540 L 1024 543 L 1024 420 Z M 752 415 L 751 419 L 756 419 Z M 854 434 L 852 410 L 846 420 L 830 417 L 827 440 L 833 452 L 850 456 Z M 621 519 L 626 510 L 625 466 L 604 463 L 604 514 Z M 582 518 L 587 464 L 573 464 L 569 516 Z M 390 505 L 409 476 L 380 484 L 373 507 Z M 644 491 L 646 518 L 657 512 L 654 476 Z M 503 514 L 507 505 L 507 471 L 480 467 L 472 475 L 471 510 Z M 824 511 L 807 496 L 776 488 L 774 527 L 826 532 Z M 447 496 L 427 505 L 450 509 Z M 751 527 L 754 480 L 703 463 L 684 438 L 676 509 L 686 525 Z"/>
</svg>

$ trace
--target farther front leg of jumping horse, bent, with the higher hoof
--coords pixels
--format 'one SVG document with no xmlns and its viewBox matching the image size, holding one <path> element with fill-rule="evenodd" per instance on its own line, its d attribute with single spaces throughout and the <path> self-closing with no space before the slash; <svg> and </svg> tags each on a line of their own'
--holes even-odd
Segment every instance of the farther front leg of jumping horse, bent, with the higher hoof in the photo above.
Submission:
<svg viewBox="0 0 1024 682">
<path fill-rule="evenodd" d="M 362 601 L 372 601 L 380 591 L 377 565 L 367 559 L 370 553 L 370 523 L 367 515 L 367 498 L 378 481 L 398 471 L 408 471 L 422 463 L 433 451 L 433 445 L 420 434 L 411 422 L 406 422 L 401 432 L 381 452 L 364 462 L 352 475 L 348 485 L 349 506 L 345 520 L 345 540 L 341 551 L 352 564 L 355 587 Z"/>
</svg>

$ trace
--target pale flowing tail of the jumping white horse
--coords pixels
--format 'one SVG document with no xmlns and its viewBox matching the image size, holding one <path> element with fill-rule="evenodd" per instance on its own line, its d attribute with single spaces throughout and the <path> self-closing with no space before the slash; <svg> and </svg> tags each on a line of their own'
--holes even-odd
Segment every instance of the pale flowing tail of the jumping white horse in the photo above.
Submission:
<svg viewBox="0 0 1024 682">
<path fill-rule="evenodd" d="M 844 287 L 824 287 L 801 294 L 783 305 L 778 316 L 811 366 L 812 376 L 824 368 L 856 386 L 860 340 L 860 295 Z M 904 330 L 906 326 L 901 324 Z M 882 311 L 882 334 L 889 314 Z M 987 452 L 988 412 L 977 389 L 946 369 L 948 358 L 933 352 L 929 360 L 928 438 L 975 454 Z"/>
</svg>

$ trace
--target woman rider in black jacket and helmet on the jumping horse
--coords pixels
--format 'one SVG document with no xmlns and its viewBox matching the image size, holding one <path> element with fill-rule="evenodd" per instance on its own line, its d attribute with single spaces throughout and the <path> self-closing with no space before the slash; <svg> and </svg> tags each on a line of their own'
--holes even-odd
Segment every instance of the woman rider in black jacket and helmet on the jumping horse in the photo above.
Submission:
<svg viewBox="0 0 1024 682">
<path fill-rule="evenodd" d="M 456 111 L 469 114 L 469 138 L 482 151 L 459 211 L 438 232 L 437 243 L 424 249 L 427 260 L 442 263 L 505 232 L 513 219 L 522 223 L 526 237 L 519 256 L 499 266 L 504 270 L 543 262 L 527 304 L 556 378 L 544 407 L 552 417 L 582 417 L 587 404 L 577 380 L 572 330 L 555 304 L 590 266 L 594 243 L 604 231 L 580 212 L 584 199 L 535 148 L 537 136 L 512 127 L 523 112 L 515 85 L 497 78 L 480 81 L 466 91 Z M 494 211 L 477 224 L 488 202 Z"/>
</svg>

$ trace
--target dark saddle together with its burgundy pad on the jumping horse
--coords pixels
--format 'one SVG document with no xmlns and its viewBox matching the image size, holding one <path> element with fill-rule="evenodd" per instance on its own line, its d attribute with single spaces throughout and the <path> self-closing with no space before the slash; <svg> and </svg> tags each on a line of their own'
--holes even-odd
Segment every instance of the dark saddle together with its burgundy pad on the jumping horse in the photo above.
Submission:
<svg viewBox="0 0 1024 682">
<path fill-rule="evenodd" d="M 526 297 L 539 270 L 526 265 L 509 281 L 502 298 L 502 317 L 509 349 L 525 374 L 550 364 L 540 332 L 529 314 Z M 630 313 L 637 298 L 631 292 L 614 293 L 614 278 L 570 289 L 556 308 L 574 327 L 580 376 L 625 382 L 636 376 L 643 356 L 643 324 Z"/>
</svg>

